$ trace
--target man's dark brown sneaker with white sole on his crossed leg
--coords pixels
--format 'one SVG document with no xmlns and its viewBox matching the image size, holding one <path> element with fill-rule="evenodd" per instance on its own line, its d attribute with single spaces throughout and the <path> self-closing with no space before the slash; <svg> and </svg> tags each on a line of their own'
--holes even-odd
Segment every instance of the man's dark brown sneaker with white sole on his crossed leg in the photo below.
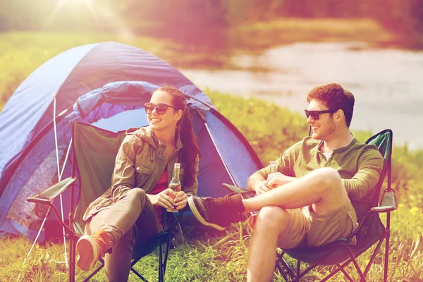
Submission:
<svg viewBox="0 0 423 282">
<path fill-rule="evenodd" d="M 239 194 L 221 198 L 188 197 L 188 204 L 195 218 L 205 226 L 225 230 L 231 223 L 244 219 L 244 206 Z"/>
</svg>

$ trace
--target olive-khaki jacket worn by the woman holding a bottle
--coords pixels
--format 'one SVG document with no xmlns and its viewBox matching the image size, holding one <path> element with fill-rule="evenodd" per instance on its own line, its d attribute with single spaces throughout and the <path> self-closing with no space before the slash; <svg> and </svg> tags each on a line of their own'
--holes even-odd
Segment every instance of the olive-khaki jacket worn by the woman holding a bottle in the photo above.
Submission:
<svg viewBox="0 0 423 282">
<path fill-rule="evenodd" d="M 87 221 L 97 212 L 107 209 L 132 188 L 141 188 L 148 194 L 161 178 L 166 165 L 169 183 L 173 175 L 174 164 L 176 162 L 180 163 L 179 152 L 182 147 L 183 144 L 180 142 L 178 135 L 176 151 L 171 158 L 168 158 L 164 155 L 166 145 L 154 136 L 154 132 L 149 126 L 128 129 L 116 155 L 111 186 L 102 196 L 98 197 L 87 207 L 83 220 Z M 194 182 L 190 186 L 182 185 L 182 190 L 188 197 L 197 195 L 198 157 L 194 167 L 196 168 Z M 184 183 L 184 174 L 184 167 L 181 164 L 180 183 L 182 184 Z M 176 217 L 173 214 L 164 212 L 164 228 L 171 226 L 175 219 Z M 172 233 L 174 234 L 173 246 L 183 242 L 183 234 L 179 225 L 176 226 L 176 230 L 172 231 Z"/>
</svg>

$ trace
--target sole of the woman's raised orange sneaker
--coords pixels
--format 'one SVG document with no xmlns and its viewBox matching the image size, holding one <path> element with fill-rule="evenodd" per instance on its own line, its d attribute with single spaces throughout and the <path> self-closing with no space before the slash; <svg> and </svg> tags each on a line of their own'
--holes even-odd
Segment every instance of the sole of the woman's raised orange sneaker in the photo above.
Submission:
<svg viewBox="0 0 423 282">
<path fill-rule="evenodd" d="M 76 264 L 83 271 L 90 271 L 97 262 L 97 247 L 90 235 L 83 235 L 76 243 L 76 251 L 79 254 Z"/>
</svg>

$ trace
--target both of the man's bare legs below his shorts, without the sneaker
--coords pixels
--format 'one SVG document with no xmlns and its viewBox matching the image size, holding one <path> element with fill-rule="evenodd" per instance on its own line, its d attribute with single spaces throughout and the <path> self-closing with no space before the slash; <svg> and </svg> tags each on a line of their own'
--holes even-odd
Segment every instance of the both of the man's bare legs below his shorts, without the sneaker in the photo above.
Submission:
<svg viewBox="0 0 423 282">
<path fill-rule="evenodd" d="M 260 210 L 251 238 L 247 281 L 271 281 L 278 236 L 288 226 L 286 209 L 312 204 L 317 214 L 329 214 L 348 200 L 338 172 L 320 168 L 298 180 L 243 200 L 245 212 Z"/>
</svg>

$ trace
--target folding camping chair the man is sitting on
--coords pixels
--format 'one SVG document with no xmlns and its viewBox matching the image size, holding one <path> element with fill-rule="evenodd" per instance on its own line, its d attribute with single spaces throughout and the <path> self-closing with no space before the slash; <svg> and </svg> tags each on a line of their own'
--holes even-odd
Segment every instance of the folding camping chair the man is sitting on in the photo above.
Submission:
<svg viewBox="0 0 423 282">
<path fill-rule="evenodd" d="M 379 181 L 374 188 L 372 202 L 363 203 L 352 201 L 355 209 L 360 207 L 360 210 L 364 209 L 368 211 L 362 218 L 357 216 L 357 221 L 359 223 L 357 230 L 351 233 L 347 238 L 340 238 L 332 243 L 328 243 L 320 247 L 296 247 L 293 249 L 282 250 L 281 254 L 278 254 L 276 257 L 276 269 L 278 269 L 286 281 L 300 281 L 300 278 L 305 276 L 318 265 L 336 265 L 335 269 L 333 269 L 331 273 L 324 277 L 321 281 L 327 281 L 333 275 L 337 274 L 338 271 L 342 271 L 349 281 L 353 281 L 353 278 L 351 278 L 344 269 L 345 266 L 350 264 L 350 262 L 353 262 L 355 269 L 360 275 L 360 281 L 366 281 L 365 277 L 384 240 L 386 240 L 384 281 L 387 280 L 389 238 L 391 235 L 391 212 L 398 208 L 395 193 L 391 189 L 392 137 L 392 131 L 390 129 L 386 129 L 370 137 L 366 142 L 367 144 L 374 144 L 379 148 L 379 152 L 381 152 L 384 157 L 384 168 Z M 384 191 L 381 204 L 379 205 L 379 195 L 386 173 L 388 177 L 387 188 Z M 233 192 L 245 192 L 245 190 L 240 190 L 239 188 L 231 190 L 233 190 Z M 386 226 L 384 226 L 381 222 L 379 213 L 386 213 Z M 353 243 L 354 236 L 357 238 L 357 243 Z M 377 243 L 376 248 L 374 249 L 372 257 L 369 259 L 369 262 L 363 272 L 358 266 L 356 258 L 362 255 L 363 252 L 369 249 L 369 247 L 372 247 L 375 243 Z M 283 255 L 285 254 L 297 259 L 297 267 L 295 271 L 290 269 L 288 264 L 283 260 Z M 300 271 L 301 262 L 309 264 L 307 269 L 304 271 Z"/>
</svg>

